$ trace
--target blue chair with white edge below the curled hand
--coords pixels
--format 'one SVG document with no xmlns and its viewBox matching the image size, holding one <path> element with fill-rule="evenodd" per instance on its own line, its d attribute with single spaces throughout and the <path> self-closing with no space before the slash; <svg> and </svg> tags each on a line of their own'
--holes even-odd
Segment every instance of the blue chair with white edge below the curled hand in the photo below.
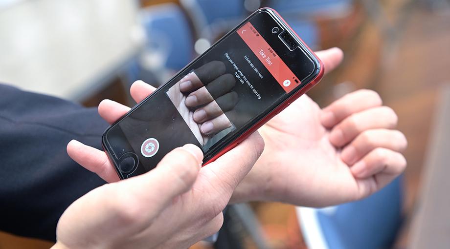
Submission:
<svg viewBox="0 0 450 249">
<path fill-rule="evenodd" d="M 311 249 L 390 248 L 402 224 L 400 176 L 356 202 L 326 208 L 300 207 L 302 232 Z"/>
</svg>

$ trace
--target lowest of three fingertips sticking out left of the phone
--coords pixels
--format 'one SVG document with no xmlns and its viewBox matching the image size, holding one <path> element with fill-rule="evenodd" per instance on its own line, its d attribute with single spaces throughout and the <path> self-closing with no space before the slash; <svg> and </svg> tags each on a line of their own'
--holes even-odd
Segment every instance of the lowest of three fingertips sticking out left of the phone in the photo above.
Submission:
<svg viewBox="0 0 450 249">
<path fill-rule="evenodd" d="M 73 161 L 94 172 L 108 183 L 120 180 L 104 151 L 72 140 L 67 144 L 67 154 Z"/>
</svg>

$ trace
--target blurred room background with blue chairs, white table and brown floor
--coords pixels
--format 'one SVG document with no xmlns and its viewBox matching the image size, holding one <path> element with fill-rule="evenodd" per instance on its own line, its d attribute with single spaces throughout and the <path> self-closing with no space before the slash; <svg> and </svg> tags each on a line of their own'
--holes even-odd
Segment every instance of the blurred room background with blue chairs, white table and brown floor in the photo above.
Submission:
<svg viewBox="0 0 450 249">
<path fill-rule="evenodd" d="M 378 91 L 399 116 L 408 167 L 358 203 L 230 207 L 225 237 L 193 248 L 449 248 L 449 0 L 0 0 L 0 82 L 86 106 L 131 106 L 135 80 L 164 83 L 266 6 L 311 48 L 343 49 L 342 65 L 309 95 L 324 106 Z M 310 215 L 325 244 L 312 242 Z M 0 234 L 0 249 L 50 245 Z"/>
</svg>

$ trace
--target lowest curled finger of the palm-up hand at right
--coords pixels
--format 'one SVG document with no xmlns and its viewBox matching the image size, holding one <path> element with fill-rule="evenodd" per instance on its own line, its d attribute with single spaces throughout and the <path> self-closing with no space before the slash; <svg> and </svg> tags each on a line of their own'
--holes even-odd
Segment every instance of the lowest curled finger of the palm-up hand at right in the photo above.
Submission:
<svg viewBox="0 0 450 249">
<path fill-rule="evenodd" d="M 358 163 L 350 168 L 357 178 L 367 178 L 383 173 L 397 177 L 406 167 L 405 157 L 396 151 L 386 148 L 376 148 L 369 152 Z"/>
</svg>

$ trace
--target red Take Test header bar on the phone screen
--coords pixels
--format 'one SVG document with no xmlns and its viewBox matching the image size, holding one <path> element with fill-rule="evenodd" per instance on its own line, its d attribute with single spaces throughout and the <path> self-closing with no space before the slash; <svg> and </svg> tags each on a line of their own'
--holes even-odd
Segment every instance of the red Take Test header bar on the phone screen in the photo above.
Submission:
<svg viewBox="0 0 450 249">
<path fill-rule="evenodd" d="M 237 32 L 286 93 L 291 92 L 300 83 L 291 69 L 281 60 L 250 22 L 244 24 Z"/>
</svg>

